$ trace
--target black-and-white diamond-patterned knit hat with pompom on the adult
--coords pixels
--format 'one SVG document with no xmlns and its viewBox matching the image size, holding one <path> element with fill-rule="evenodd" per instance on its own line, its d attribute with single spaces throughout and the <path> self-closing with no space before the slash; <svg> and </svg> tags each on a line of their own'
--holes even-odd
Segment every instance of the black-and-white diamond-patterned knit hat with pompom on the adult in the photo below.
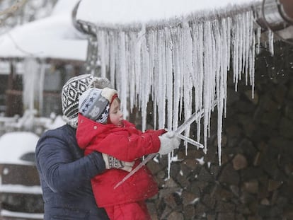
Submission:
<svg viewBox="0 0 293 220">
<path fill-rule="evenodd" d="M 110 81 L 105 78 L 98 78 L 91 74 L 75 76 L 62 88 L 62 112 L 63 119 L 71 127 L 77 127 L 77 116 L 79 112 L 79 96 L 88 88 L 110 87 Z"/>
</svg>

